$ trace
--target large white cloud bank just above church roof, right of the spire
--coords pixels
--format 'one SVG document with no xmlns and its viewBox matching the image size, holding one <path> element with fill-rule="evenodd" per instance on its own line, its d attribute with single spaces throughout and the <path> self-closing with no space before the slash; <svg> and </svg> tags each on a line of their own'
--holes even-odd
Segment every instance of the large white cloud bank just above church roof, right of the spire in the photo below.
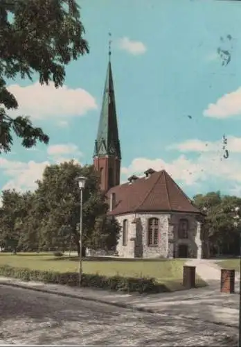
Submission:
<svg viewBox="0 0 241 347">
<path fill-rule="evenodd" d="M 135 163 L 139 161 L 139 166 L 143 172 L 146 167 L 154 169 L 166 169 L 175 179 L 181 180 L 185 185 L 216 185 L 220 182 L 220 189 L 229 189 L 229 194 L 239 194 L 241 187 L 241 137 L 226 136 L 226 149 L 229 151 L 229 158 L 224 158 L 222 149 L 222 139 L 220 141 L 201 141 L 190 139 L 179 144 L 172 144 L 168 149 L 177 149 L 180 152 L 197 153 L 194 158 L 187 158 L 181 154 L 179 158 L 172 162 L 163 160 L 134 160 L 129 168 L 125 168 L 123 173 L 139 171 Z M 211 188 L 212 189 L 212 188 Z"/>
</svg>

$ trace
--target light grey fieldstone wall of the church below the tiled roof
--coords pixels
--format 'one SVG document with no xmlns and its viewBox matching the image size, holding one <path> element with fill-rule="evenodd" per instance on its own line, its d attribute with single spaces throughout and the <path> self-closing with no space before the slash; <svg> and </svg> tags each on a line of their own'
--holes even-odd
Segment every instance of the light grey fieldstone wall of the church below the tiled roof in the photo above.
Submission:
<svg viewBox="0 0 241 347">
<path fill-rule="evenodd" d="M 148 219 L 159 219 L 159 242 L 148 246 Z M 188 219 L 188 239 L 179 239 L 180 219 Z M 202 257 L 201 223 L 193 214 L 142 213 L 116 217 L 120 226 L 120 239 L 116 251 L 120 257 L 177 257 L 180 244 L 188 246 L 188 257 Z M 123 221 L 128 221 L 127 246 L 123 246 Z"/>
</svg>

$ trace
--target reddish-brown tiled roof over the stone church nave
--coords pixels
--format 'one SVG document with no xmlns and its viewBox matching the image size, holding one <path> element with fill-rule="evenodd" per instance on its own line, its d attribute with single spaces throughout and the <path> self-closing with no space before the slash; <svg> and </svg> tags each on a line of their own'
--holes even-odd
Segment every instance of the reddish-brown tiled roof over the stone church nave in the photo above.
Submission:
<svg viewBox="0 0 241 347">
<path fill-rule="evenodd" d="M 116 207 L 109 214 L 141 211 L 201 213 L 165 170 L 113 187 L 107 197 L 112 193 L 116 194 Z"/>
</svg>

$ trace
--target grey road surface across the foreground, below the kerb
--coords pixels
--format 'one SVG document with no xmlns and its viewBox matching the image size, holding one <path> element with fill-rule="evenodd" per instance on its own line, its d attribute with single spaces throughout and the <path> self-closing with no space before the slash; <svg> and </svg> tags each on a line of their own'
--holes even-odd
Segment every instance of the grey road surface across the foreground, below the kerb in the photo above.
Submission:
<svg viewBox="0 0 241 347">
<path fill-rule="evenodd" d="M 222 325 L 0 285 L 0 344 L 237 346 Z"/>
</svg>

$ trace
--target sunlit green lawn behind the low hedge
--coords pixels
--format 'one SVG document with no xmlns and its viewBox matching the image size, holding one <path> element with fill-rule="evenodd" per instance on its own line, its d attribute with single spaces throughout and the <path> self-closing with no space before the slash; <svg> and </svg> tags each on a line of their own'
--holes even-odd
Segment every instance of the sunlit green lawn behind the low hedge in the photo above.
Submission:
<svg viewBox="0 0 241 347">
<path fill-rule="evenodd" d="M 51 253 L 0 253 L 0 265 L 28 267 L 37 270 L 66 272 L 78 271 L 78 257 L 55 257 Z M 184 289 L 182 286 L 184 260 L 123 260 L 110 257 L 87 257 L 82 263 L 84 273 L 98 273 L 105 276 L 154 277 L 170 290 Z M 198 287 L 205 282 L 197 276 Z"/>
</svg>

